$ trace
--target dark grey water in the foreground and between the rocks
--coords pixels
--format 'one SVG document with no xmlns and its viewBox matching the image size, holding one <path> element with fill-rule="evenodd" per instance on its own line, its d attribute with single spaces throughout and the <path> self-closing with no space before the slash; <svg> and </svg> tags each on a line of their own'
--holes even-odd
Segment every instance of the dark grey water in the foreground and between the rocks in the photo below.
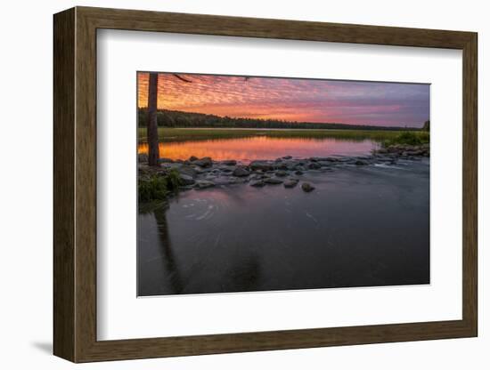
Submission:
<svg viewBox="0 0 490 370">
<path fill-rule="evenodd" d="M 257 157 L 298 155 L 248 142 L 261 148 Z M 295 140 L 281 142 L 293 148 Z M 330 144 L 305 150 L 319 155 L 309 150 Z M 222 148 L 233 158 L 240 153 Z M 429 283 L 428 162 L 307 173 L 305 180 L 312 193 L 247 184 L 190 190 L 140 214 L 138 294 Z"/>
</svg>

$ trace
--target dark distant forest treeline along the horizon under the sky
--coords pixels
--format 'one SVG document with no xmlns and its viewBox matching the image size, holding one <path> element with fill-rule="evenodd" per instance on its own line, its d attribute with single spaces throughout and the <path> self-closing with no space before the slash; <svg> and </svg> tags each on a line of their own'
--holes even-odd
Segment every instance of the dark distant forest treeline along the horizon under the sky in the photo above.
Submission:
<svg viewBox="0 0 490 370">
<path fill-rule="evenodd" d="M 146 127 L 147 109 L 138 109 L 138 126 Z M 157 124 L 160 127 L 208 127 L 208 128 L 292 128 L 292 129 L 344 129 L 344 130 L 393 130 L 419 131 L 429 123 L 417 127 L 380 127 L 375 125 L 347 125 L 335 123 L 290 122 L 276 119 L 232 118 L 206 115 L 203 113 L 188 113 L 179 110 L 159 109 Z"/>
</svg>

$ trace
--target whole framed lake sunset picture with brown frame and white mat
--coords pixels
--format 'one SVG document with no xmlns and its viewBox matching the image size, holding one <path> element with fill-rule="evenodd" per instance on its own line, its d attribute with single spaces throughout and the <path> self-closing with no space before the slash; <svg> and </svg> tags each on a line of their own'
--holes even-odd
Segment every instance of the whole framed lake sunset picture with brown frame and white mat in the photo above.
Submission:
<svg viewBox="0 0 490 370">
<path fill-rule="evenodd" d="M 54 354 L 476 336 L 477 34 L 54 15 Z"/>
</svg>

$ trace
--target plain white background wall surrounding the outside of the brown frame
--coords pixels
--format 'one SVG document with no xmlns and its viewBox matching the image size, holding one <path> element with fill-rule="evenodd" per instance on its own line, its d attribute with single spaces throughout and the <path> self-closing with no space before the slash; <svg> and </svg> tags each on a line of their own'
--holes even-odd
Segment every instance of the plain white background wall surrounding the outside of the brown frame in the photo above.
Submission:
<svg viewBox="0 0 490 370">
<path fill-rule="evenodd" d="M 92 5 L 168 12 L 197 12 L 290 20 L 321 20 L 419 28 L 445 28 L 479 33 L 479 271 L 478 339 L 410 342 L 314 350 L 282 350 L 233 355 L 167 358 L 82 365 L 78 368 L 375 368 L 484 369 L 490 358 L 490 321 L 486 320 L 484 287 L 490 267 L 484 250 L 484 217 L 489 211 L 490 130 L 485 126 L 485 91 L 490 76 L 485 64 L 490 49 L 486 3 L 412 0 L 302 1 L 55 1 L 4 2 L 0 14 L 0 364 L 4 368 L 61 369 L 69 362 L 54 358 L 52 342 L 52 14 L 73 5 Z M 29 94 L 27 108 L 25 95 Z M 20 148 L 19 138 L 29 147 Z M 484 176 L 486 175 L 486 179 Z M 485 214 L 484 214 L 485 213 Z M 487 236 L 487 235 L 486 235 Z"/>
</svg>

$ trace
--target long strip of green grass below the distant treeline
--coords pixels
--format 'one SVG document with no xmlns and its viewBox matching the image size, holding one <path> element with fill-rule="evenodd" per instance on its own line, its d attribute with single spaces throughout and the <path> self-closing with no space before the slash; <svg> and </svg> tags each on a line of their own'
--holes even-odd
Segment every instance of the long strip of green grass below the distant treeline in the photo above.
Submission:
<svg viewBox="0 0 490 370">
<path fill-rule="evenodd" d="M 415 137 L 428 136 L 425 132 L 407 132 Z M 305 139 L 342 139 L 352 141 L 363 141 L 371 139 L 373 141 L 396 140 L 400 135 L 399 131 L 388 130 L 255 130 L 255 129 L 183 129 L 159 127 L 159 141 L 204 141 L 220 139 L 239 139 L 254 136 L 267 136 L 272 138 L 305 138 Z M 146 141 L 146 128 L 138 129 L 138 139 Z"/>
</svg>

